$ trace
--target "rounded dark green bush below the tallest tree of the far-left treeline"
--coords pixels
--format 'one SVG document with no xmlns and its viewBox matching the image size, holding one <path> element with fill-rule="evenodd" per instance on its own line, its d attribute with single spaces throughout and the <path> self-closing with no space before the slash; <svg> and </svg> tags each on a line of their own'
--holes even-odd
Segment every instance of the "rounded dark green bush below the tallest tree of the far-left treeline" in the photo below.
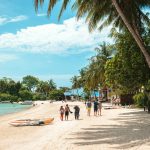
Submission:
<svg viewBox="0 0 150 150">
<path fill-rule="evenodd" d="M 22 100 L 32 100 L 33 94 L 28 90 L 19 91 L 19 96 Z"/>
</svg>

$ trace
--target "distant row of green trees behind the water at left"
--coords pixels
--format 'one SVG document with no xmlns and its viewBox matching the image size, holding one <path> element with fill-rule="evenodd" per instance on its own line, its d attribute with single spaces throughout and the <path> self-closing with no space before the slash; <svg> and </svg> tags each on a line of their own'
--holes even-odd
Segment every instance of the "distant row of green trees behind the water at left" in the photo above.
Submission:
<svg viewBox="0 0 150 150">
<path fill-rule="evenodd" d="M 59 94 L 63 94 L 67 87 L 61 88 Z M 53 80 L 40 81 L 34 76 L 27 75 L 22 82 L 15 82 L 11 78 L 0 79 L 0 100 L 1 101 L 22 101 L 22 100 L 46 100 L 49 99 L 50 91 L 57 91 Z M 56 94 L 61 98 L 62 95 Z M 55 97 L 55 96 L 54 96 Z M 57 98 L 58 99 L 58 98 Z"/>
</svg>

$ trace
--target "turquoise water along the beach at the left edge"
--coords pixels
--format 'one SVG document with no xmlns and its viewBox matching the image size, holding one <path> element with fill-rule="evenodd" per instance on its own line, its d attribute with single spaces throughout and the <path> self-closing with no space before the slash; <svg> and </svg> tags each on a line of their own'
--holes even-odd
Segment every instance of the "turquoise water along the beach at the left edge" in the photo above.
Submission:
<svg viewBox="0 0 150 150">
<path fill-rule="evenodd" d="M 30 107 L 31 105 L 21 105 L 21 104 L 11 104 L 11 103 L 0 104 L 0 115 L 18 112 Z"/>
</svg>

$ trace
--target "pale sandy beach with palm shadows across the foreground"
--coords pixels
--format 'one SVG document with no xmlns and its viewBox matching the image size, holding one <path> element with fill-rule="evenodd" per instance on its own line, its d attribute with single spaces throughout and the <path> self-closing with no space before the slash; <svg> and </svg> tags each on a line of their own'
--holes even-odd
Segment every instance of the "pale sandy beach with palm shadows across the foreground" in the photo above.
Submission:
<svg viewBox="0 0 150 150">
<path fill-rule="evenodd" d="M 86 116 L 85 105 L 68 103 L 73 110 L 80 105 L 80 120 L 60 121 L 62 103 L 38 102 L 28 110 L 0 117 L 0 150 L 149 150 L 150 115 L 140 109 L 107 109 L 102 116 Z M 65 105 L 65 103 L 63 104 Z M 54 117 L 46 126 L 13 127 L 16 119 Z"/>
</svg>

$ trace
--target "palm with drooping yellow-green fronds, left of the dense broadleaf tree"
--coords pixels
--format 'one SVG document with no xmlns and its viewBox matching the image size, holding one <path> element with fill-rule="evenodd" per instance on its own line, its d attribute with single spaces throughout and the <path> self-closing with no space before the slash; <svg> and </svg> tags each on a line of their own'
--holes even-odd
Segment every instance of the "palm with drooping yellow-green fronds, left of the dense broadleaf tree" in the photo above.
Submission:
<svg viewBox="0 0 150 150">
<path fill-rule="evenodd" d="M 105 87 L 105 65 L 109 56 L 111 56 L 111 51 L 105 42 L 96 47 L 95 50 L 97 54 L 91 57 L 89 66 L 80 71 L 79 80 L 84 91 L 93 92 L 98 90 L 99 87 Z"/>
</svg>

